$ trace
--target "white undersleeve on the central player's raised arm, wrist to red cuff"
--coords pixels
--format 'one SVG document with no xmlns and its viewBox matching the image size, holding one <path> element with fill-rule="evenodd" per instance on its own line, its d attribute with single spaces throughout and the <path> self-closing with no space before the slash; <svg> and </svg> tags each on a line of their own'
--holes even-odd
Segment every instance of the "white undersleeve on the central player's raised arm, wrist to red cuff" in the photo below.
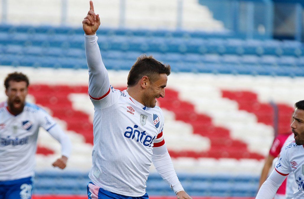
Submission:
<svg viewBox="0 0 304 199">
<path fill-rule="evenodd" d="M 85 56 L 89 72 L 89 95 L 94 100 L 101 100 L 110 92 L 110 81 L 108 71 L 102 62 L 97 39 L 96 34 L 85 35 Z"/>
</svg>

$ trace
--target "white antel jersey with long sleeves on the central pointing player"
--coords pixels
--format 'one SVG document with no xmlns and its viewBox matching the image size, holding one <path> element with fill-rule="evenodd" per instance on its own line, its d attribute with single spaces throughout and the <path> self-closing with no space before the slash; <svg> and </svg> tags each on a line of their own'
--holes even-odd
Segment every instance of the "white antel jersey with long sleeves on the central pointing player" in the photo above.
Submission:
<svg viewBox="0 0 304 199">
<path fill-rule="evenodd" d="M 174 192 L 182 191 L 164 143 L 161 109 L 143 106 L 126 90 L 110 85 L 97 39 L 96 35 L 85 35 L 88 92 L 95 110 L 90 179 L 107 191 L 140 197 L 146 193 L 153 160 Z"/>
</svg>

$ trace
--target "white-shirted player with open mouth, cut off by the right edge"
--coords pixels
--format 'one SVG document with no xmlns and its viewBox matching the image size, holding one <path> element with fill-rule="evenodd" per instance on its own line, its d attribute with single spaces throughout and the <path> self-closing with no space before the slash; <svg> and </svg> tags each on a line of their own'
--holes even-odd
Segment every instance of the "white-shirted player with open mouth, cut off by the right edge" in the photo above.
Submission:
<svg viewBox="0 0 304 199">
<path fill-rule="evenodd" d="M 295 103 L 291 124 L 294 141 L 282 149 L 281 156 L 270 176 L 261 186 L 256 198 L 273 198 L 286 176 L 293 172 L 298 184 L 293 198 L 304 198 L 304 100 Z"/>
</svg>

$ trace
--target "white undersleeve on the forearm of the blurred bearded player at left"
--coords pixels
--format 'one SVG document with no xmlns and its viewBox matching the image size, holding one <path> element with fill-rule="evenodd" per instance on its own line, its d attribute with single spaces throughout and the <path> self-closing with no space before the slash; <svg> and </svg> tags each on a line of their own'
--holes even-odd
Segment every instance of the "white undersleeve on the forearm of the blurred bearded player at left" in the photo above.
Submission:
<svg viewBox="0 0 304 199">
<path fill-rule="evenodd" d="M 72 144 L 67 134 L 63 132 L 58 124 L 54 125 L 47 131 L 61 144 L 61 155 L 70 157 Z"/>
</svg>

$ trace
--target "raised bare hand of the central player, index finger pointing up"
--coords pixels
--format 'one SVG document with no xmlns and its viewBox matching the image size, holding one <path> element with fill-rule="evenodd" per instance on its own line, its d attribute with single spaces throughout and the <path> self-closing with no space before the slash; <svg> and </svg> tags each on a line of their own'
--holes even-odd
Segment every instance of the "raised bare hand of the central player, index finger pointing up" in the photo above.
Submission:
<svg viewBox="0 0 304 199">
<path fill-rule="evenodd" d="M 99 28 L 100 18 L 99 15 L 95 14 L 93 2 L 90 1 L 90 10 L 88 15 L 82 21 L 82 28 L 85 31 L 86 35 L 94 35 Z"/>
</svg>

